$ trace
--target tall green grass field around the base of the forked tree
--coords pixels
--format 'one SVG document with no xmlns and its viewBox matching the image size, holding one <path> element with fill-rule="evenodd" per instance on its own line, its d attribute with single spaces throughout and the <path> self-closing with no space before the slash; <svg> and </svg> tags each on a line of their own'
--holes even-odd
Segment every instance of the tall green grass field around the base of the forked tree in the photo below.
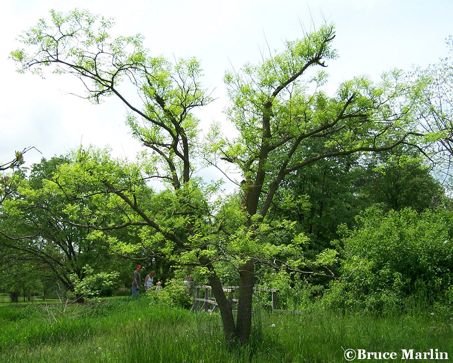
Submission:
<svg viewBox="0 0 453 363">
<path fill-rule="evenodd" d="M 146 298 L 96 306 L 5 304 L 0 306 L 0 361 L 333 363 L 346 362 L 346 349 L 397 352 L 397 360 L 401 349 L 438 349 L 453 358 L 453 315 L 447 309 L 420 307 L 380 316 L 316 306 L 300 315 L 261 312 L 261 339 L 233 351 L 221 331 L 207 334 L 203 319 L 214 317 L 153 307 Z"/>
</svg>

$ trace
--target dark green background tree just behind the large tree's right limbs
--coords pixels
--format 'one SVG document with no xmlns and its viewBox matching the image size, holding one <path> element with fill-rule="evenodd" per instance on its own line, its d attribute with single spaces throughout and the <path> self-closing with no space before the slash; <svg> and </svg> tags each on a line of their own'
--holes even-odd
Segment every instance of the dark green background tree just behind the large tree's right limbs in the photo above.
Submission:
<svg viewBox="0 0 453 363">
<path fill-rule="evenodd" d="M 269 217 L 297 221 L 299 232 L 310 238 L 310 248 L 317 252 L 330 247 L 338 238 L 338 225 L 352 227 L 358 212 L 354 183 L 361 171 L 355 159 L 328 158 L 289 175 Z"/>
</svg>

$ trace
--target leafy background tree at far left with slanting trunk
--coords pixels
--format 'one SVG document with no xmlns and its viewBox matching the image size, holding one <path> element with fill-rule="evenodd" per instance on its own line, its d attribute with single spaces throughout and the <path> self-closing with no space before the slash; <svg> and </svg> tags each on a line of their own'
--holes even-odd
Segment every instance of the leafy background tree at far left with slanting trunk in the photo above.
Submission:
<svg viewBox="0 0 453 363">
<path fill-rule="evenodd" d="M 83 294 L 76 291 L 76 281 L 115 271 L 117 266 L 108 244 L 90 236 L 87 228 L 65 222 L 72 214 L 79 213 L 87 221 L 97 213 L 88 199 L 61 195 L 50 182 L 58 168 L 64 169 L 69 163 L 68 158 L 60 157 L 43 159 L 32 167 L 30 177 L 21 181 L 15 197 L 6 199 L 0 210 L 0 244 L 18 261 L 19 270 L 16 267 L 17 273 L 13 273 L 16 280 L 21 279 L 20 270 L 25 281 L 44 280 L 50 270 L 66 291 L 75 293 L 77 300 L 81 300 Z M 30 269 L 34 270 L 33 278 Z"/>
</svg>

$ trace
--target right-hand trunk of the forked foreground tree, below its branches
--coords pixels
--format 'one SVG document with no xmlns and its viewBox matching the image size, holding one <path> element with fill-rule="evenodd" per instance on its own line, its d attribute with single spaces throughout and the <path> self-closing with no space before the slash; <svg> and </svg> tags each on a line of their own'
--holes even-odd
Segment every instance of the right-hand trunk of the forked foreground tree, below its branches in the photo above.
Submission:
<svg viewBox="0 0 453 363">
<path fill-rule="evenodd" d="M 251 260 L 239 266 L 239 303 L 236 330 L 240 344 L 247 343 L 252 331 L 252 298 L 255 263 Z"/>
</svg>

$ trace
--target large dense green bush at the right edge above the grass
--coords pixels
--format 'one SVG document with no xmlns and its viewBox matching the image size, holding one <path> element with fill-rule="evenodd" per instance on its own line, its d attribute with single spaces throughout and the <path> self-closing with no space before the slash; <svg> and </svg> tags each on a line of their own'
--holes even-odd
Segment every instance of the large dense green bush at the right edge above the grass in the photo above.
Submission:
<svg viewBox="0 0 453 363">
<path fill-rule="evenodd" d="M 439 300 L 453 284 L 453 213 L 371 208 L 338 242 L 342 277 L 326 301 L 343 308 L 383 310 L 409 297 Z"/>
</svg>

